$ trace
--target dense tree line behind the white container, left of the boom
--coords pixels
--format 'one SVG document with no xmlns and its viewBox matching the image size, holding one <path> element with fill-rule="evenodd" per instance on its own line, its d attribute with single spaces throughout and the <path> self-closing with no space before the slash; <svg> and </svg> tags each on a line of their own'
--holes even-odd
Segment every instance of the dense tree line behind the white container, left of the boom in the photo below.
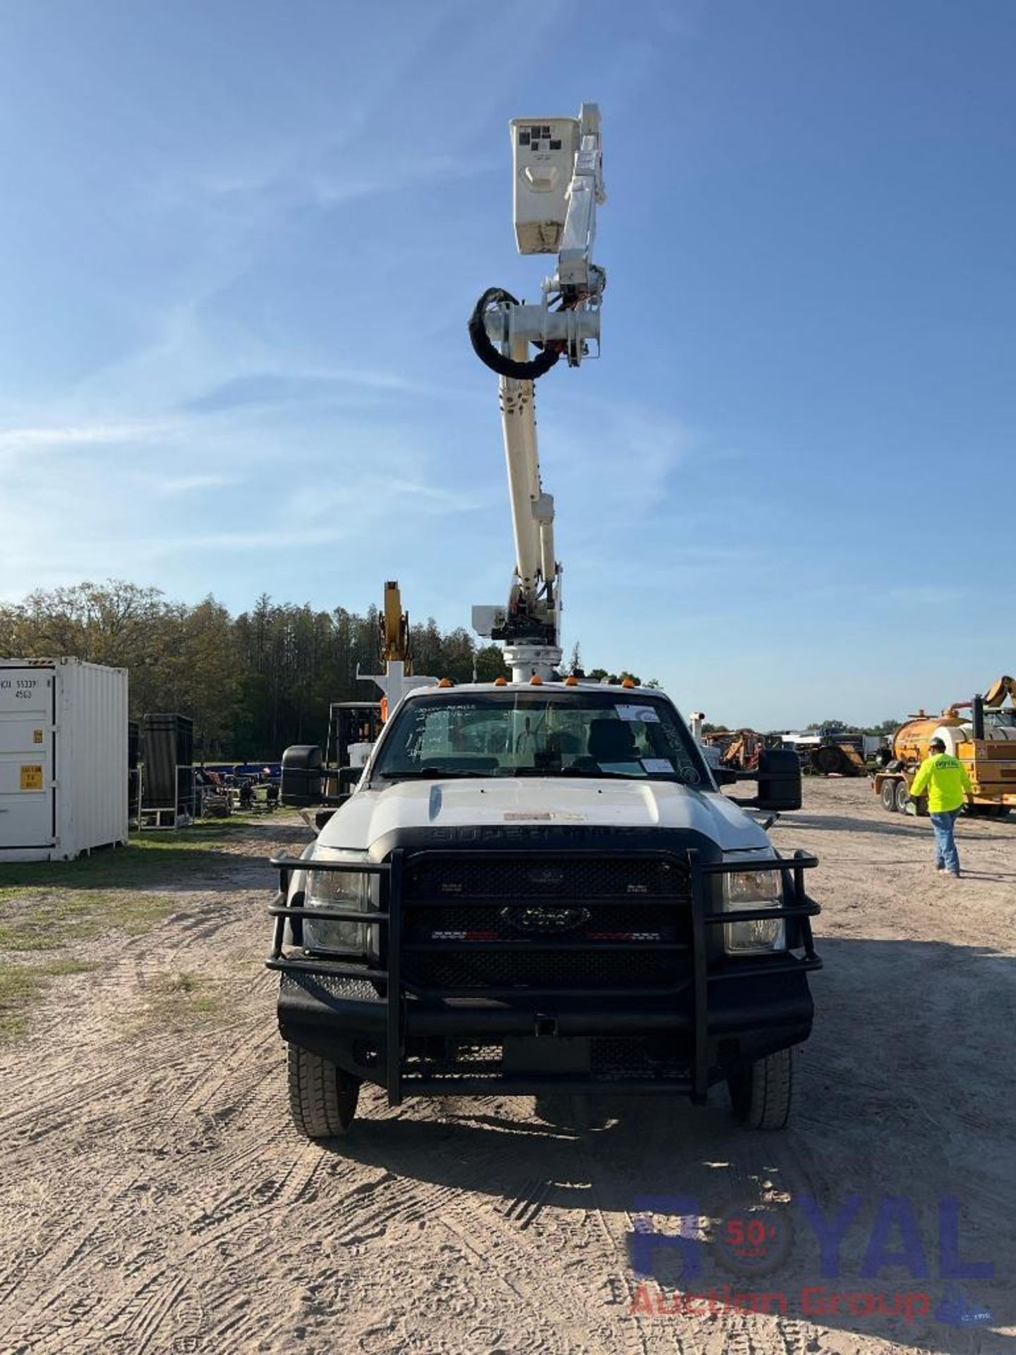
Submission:
<svg viewBox="0 0 1016 1355">
<path fill-rule="evenodd" d="M 508 676 L 497 645 L 431 618 L 410 626 L 415 669 L 455 682 Z M 0 654 L 73 657 L 130 671 L 131 720 L 176 711 L 194 721 L 199 760 L 278 759 L 321 743 L 333 701 L 375 701 L 362 672 L 381 672 L 377 607 L 366 614 L 275 603 L 238 617 L 209 595 L 196 604 L 125 580 L 37 591 L 0 603 Z"/>
</svg>

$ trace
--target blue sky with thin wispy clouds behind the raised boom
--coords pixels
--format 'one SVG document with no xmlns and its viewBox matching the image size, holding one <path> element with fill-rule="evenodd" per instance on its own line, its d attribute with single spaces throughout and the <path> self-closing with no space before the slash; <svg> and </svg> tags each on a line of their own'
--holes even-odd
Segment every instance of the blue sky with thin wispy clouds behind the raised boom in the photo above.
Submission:
<svg viewBox="0 0 1016 1355">
<path fill-rule="evenodd" d="M 596 100 L 538 386 L 565 645 L 759 728 L 1016 663 L 1016 7 L 4 0 L 0 596 L 507 595 L 513 115 Z"/>
</svg>

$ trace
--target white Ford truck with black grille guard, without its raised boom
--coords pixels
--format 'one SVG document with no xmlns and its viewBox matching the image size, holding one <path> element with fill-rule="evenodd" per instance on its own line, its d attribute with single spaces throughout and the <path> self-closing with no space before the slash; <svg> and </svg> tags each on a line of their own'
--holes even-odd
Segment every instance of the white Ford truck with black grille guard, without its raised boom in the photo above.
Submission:
<svg viewBox="0 0 1016 1355">
<path fill-rule="evenodd" d="M 753 799 L 658 690 L 564 680 L 406 695 L 299 858 L 276 858 L 268 966 L 290 1107 L 344 1134 L 363 1083 L 405 1096 L 637 1092 L 779 1129 L 820 967 L 805 889 Z M 746 779 L 746 778 L 745 778 Z"/>
</svg>

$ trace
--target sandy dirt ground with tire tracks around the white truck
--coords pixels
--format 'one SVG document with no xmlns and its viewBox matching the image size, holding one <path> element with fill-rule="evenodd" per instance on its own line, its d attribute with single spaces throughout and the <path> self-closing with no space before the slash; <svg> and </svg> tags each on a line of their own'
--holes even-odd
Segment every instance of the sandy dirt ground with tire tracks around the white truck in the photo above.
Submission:
<svg viewBox="0 0 1016 1355">
<path fill-rule="evenodd" d="M 1016 1350 L 1016 821 L 960 822 L 960 881 L 867 782 L 807 782 L 774 835 L 821 858 L 825 909 L 787 1133 L 734 1127 L 721 1089 L 370 1092 L 336 1149 L 290 1127 L 260 965 L 264 859 L 309 833 L 240 833 L 214 889 L 83 943 L 104 967 L 0 1046 L 0 1350 Z M 753 1259 L 722 1245 L 759 1221 Z"/>
</svg>

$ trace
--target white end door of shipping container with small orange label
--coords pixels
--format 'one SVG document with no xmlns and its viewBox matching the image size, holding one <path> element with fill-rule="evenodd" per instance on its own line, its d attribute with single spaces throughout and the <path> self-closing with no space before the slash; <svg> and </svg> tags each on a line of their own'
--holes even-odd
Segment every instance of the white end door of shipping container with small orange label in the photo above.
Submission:
<svg viewBox="0 0 1016 1355">
<path fill-rule="evenodd" d="M 56 840 L 54 684 L 53 669 L 0 668 L 0 851 Z"/>
</svg>

